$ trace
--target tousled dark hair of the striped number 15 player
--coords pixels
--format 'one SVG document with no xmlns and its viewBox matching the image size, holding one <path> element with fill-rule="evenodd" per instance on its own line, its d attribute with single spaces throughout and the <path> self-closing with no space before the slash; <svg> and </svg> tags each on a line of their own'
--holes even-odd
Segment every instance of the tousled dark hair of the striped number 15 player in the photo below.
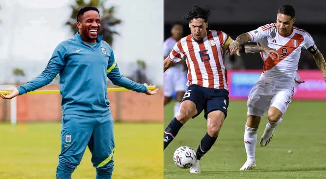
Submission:
<svg viewBox="0 0 326 179">
<path fill-rule="evenodd" d="M 202 18 L 205 20 L 205 22 L 208 21 L 208 17 L 210 15 L 210 7 L 199 7 L 198 5 L 195 5 L 192 7 L 192 10 L 189 11 L 187 14 L 184 15 L 183 19 L 187 21 L 188 23 L 191 22 L 191 20 L 196 18 Z"/>
</svg>

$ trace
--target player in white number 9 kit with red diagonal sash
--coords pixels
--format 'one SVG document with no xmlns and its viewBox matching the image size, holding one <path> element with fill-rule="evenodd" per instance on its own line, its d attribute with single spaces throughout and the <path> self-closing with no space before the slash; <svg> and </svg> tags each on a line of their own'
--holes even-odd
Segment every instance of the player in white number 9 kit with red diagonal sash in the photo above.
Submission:
<svg viewBox="0 0 326 179">
<path fill-rule="evenodd" d="M 248 97 L 248 117 L 244 132 L 247 160 L 240 170 L 249 170 L 256 165 L 255 147 L 261 117 L 268 111 L 268 122 L 260 138 L 261 146 L 270 142 L 276 126 L 282 121 L 291 103 L 294 81 L 297 81 L 296 70 L 301 48 L 307 49 L 313 55 L 326 80 L 326 62 L 321 52 L 309 33 L 293 26 L 294 21 L 294 8 L 291 5 L 283 5 L 277 12 L 276 23 L 242 34 L 230 44 L 231 54 L 239 51 L 239 47 L 248 41 L 266 43 L 262 45 L 277 49 L 280 54 L 280 60 L 273 61 L 262 53 L 262 74 Z"/>
</svg>

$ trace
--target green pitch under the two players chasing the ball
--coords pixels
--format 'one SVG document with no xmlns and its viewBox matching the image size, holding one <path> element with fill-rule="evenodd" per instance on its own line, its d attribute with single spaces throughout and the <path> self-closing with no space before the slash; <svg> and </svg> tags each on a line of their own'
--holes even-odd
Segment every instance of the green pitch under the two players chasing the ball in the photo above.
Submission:
<svg viewBox="0 0 326 179">
<path fill-rule="evenodd" d="M 165 107 L 165 126 L 173 118 L 173 103 Z M 200 160 L 200 174 L 173 163 L 176 148 L 197 150 L 206 132 L 203 115 L 191 119 L 164 152 L 164 178 L 326 178 L 326 102 L 293 101 L 266 147 L 257 146 L 257 167 L 239 171 L 246 160 L 243 143 L 246 101 L 230 101 L 228 117 L 212 149 Z M 258 140 L 266 117 L 261 120 Z M 291 150 L 291 153 L 288 152 Z"/>
</svg>

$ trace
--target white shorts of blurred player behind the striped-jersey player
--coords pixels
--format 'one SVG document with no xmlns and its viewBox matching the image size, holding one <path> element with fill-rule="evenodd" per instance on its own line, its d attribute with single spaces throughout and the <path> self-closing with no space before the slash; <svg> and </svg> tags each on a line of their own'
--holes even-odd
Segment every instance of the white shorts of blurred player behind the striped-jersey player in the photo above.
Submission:
<svg viewBox="0 0 326 179">
<path fill-rule="evenodd" d="M 187 76 L 183 66 L 177 64 L 164 72 L 164 96 L 171 97 L 174 91 L 187 90 Z"/>
</svg>

